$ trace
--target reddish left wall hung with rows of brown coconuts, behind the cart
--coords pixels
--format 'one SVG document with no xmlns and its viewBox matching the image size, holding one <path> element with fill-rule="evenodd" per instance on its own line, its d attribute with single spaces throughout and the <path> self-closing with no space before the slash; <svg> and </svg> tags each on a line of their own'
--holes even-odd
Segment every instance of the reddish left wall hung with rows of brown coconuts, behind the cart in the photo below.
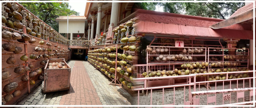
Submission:
<svg viewBox="0 0 256 108">
<path fill-rule="evenodd" d="M 18 3 L 2 3 L 2 104 L 12 105 L 44 78 L 50 58 L 70 59 L 67 39 Z"/>
</svg>

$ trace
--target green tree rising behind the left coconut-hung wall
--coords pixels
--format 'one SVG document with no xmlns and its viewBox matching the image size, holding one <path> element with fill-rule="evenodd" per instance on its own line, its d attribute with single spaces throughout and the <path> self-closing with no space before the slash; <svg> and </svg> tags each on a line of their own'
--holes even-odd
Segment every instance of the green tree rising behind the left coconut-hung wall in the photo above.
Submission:
<svg viewBox="0 0 256 108">
<path fill-rule="evenodd" d="M 70 10 L 69 3 L 19 3 L 22 4 L 31 13 L 37 16 L 39 19 L 44 21 L 46 24 L 51 26 L 56 31 L 59 31 L 59 24 L 55 21 L 59 16 L 77 15 L 79 13 Z"/>
</svg>

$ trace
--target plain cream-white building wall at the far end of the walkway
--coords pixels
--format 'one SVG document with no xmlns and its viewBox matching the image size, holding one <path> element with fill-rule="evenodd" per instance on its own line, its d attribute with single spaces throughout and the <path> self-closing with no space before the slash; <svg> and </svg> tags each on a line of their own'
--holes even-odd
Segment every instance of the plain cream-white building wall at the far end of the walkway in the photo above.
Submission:
<svg viewBox="0 0 256 108">
<path fill-rule="evenodd" d="M 74 36 L 73 33 L 83 34 L 84 33 L 85 21 L 68 21 L 68 33 L 70 33 L 70 40 Z M 59 33 L 67 33 L 67 21 L 59 21 Z"/>
</svg>

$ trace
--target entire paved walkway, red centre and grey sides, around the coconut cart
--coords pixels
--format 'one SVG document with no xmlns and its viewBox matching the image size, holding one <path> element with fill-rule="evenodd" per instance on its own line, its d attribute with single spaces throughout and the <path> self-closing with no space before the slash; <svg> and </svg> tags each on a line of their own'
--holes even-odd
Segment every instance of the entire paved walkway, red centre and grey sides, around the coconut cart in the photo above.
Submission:
<svg viewBox="0 0 256 108">
<path fill-rule="evenodd" d="M 107 78 L 87 61 L 70 60 L 72 68 L 70 89 L 50 93 L 41 92 L 41 84 L 17 101 L 17 105 L 131 105 L 120 86 L 108 85 Z M 125 97 L 124 97 L 125 96 Z"/>
</svg>

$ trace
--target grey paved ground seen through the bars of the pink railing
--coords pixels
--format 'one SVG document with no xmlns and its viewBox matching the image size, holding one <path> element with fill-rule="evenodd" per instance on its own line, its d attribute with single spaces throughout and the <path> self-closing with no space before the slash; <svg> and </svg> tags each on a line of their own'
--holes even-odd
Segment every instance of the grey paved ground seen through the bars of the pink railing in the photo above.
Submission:
<svg viewBox="0 0 256 108">
<path fill-rule="evenodd" d="M 252 81 L 251 81 L 252 82 Z M 252 86 L 253 83 L 251 83 Z M 244 82 L 244 87 L 249 87 L 250 83 L 249 81 Z M 215 90 L 215 84 L 210 84 L 211 89 L 209 90 Z M 232 88 L 243 88 L 243 82 L 231 82 L 231 89 Z M 223 89 L 223 84 L 222 83 L 217 83 L 216 90 Z M 224 89 L 230 89 L 230 82 L 224 83 Z M 185 101 L 188 101 L 188 87 L 185 88 Z M 191 91 L 193 91 L 194 88 L 191 86 Z M 196 91 L 199 91 L 199 86 L 196 86 Z M 204 85 L 200 85 L 200 91 L 207 91 L 207 87 Z M 146 91 L 144 91 L 146 92 Z M 249 98 L 249 91 L 244 92 L 244 101 L 250 101 Z M 225 93 L 227 94 L 227 93 Z M 148 90 L 148 95 L 144 94 L 143 96 L 140 96 L 140 105 L 150 105 L 150 95 L 151 91 Z M 174 96 L 174 89 L 173 88 L 165 88 L 164 89 L 164 104 L 172 104 L 173 102 L 173 96 Z M 215 96 L 213 95 L 208 95 L 210 96 Z M 216 105 L 221 105 L 222 104 L 222 97 L 223 94 L 216 94 Z M 134 97 L 135 99 L 132 101 L 133 105 L 137 105 L 137 96 Z M 163 90 L 162 89 L 157 89 L 157 90 L 152 90 L 152 104 L 153 105 L 162 105 L 162 98 L 163 98 Z M 200 98 L 200 105 L 207 105 L 207 95 L 200 95 L 200 97 L 196 96 L 196 98 Z M 168 100 L 168 101 L 166 101 Z M 237 93 L 233 92 L 231 93 L 231 103 L 237 103 L 238 102 L 243 102 L 243 98 L 238 98 L 237 100 Z M 251 101 L 253 101 L 253 97 L 251 96 Z M 224 100 L 224 104 L 229 104 L 229 100 Z M 215 103 L 208 103 L 208 104 L 213 104 Z M 184 87 L 178 87 L 175 88 L 175 105 L 184 105 Z"/>
</svg>

